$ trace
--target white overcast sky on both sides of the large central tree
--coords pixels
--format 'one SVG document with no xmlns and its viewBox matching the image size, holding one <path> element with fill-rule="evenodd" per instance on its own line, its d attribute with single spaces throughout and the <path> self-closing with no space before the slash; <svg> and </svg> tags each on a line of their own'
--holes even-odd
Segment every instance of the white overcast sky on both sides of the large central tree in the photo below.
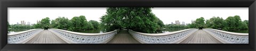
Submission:
<svg viewBox="0 0 256 51">
<path fill-rule="evenodd" d="M 191 23 L 191 20 L 204 17 L 210 19 L 219 16 L 226 19 L 228 16 L 239 15 L 243 20 L 249 20 L 248 7 L 154 7 L 152 12 L 164 22 L 164 24 L 175 23 L 175 20 Z M 87 21 L 95 20 L 106 14 L 106 7 L 9 7 L 8 21 L 10 24 L 25 21 L 30 24 L 37 20 L 49 17 L 51 20 L 66 17 L 69 20 L 74 16 L 84 15 Z"/>
</svg>

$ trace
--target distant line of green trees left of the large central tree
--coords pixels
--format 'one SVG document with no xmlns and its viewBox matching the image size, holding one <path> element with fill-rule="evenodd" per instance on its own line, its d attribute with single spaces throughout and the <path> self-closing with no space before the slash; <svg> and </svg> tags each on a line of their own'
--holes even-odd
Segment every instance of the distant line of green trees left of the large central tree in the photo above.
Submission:
<svg viewBox="0 0 256 51">
<path fill-rule="evenodd" d="M 49 29 L 49 28 L 56 28 L 56 29 L 66 29 L 69 31 L 77 31 L 77 30 L 89 30 L 89 29 L 99 29 L 99 22 L 90 20 L 87 21 L 85 16 L 75 16 L 71 20 L 65 17 L 59 17 L 55 20 L 50 20 L 50 18 L 44 18 L 39 23 L 35 25 L 22 25 L 22 24 L 13 24 L 10 25 L 9 22 L 8 29 Z"/>
</svg>

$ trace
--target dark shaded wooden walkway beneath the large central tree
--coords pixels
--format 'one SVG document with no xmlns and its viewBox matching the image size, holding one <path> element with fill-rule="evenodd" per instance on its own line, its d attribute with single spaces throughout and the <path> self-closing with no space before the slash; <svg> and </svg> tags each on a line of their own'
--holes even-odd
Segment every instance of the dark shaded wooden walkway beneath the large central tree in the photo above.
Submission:
<svg viewBox="0 0 256 51">
<path fill-rule="evenodd" d="M 120 30 L 107 44 L 141 44 L 127 30 Z"/>
</svg>

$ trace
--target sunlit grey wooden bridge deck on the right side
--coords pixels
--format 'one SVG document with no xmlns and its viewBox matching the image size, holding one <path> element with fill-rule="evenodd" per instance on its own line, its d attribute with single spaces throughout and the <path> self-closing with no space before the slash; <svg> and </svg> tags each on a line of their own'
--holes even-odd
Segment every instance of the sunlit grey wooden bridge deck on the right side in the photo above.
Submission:
<svg viewBox="0 0 256 51">
<path fill-rule="evenodd" d="M 197 30 L 180 44 L 222 44 L 204 30 Z"/>
</svg>

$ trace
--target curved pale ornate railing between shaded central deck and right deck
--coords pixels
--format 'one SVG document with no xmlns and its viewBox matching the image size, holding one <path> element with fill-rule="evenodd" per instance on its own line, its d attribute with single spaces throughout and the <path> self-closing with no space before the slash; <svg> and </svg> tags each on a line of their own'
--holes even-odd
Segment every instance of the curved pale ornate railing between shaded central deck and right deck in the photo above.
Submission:
<svg viewBox="0 0 256 51">
<path fill-rule="evenodd" d="M 185 29 L 166 33 L 141 33 L 129 30 L 132 36 L 142 44 L 179 44 L 198 29 Z"/>
</svg>

